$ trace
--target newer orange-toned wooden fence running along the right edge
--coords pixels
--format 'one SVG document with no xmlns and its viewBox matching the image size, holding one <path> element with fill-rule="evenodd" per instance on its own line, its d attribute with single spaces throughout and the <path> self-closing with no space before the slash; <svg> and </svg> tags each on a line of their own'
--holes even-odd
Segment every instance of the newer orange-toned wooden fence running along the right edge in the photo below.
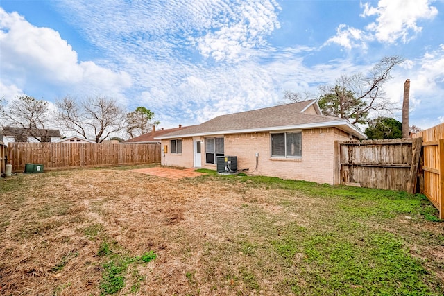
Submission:
<svg viewBox="0 0 444 296">
<path fill-rule="evenodd" d="M 420 160 L 420 193 L 439 210 L 444 219 L 444 123 L 413 134 L 422 137 Z"/>
</svg>

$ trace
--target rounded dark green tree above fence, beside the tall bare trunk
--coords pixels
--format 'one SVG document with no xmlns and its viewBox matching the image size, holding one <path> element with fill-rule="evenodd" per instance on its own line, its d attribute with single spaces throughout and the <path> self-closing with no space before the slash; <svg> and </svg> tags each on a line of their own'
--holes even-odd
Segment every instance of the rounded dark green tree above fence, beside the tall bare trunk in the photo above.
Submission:
<svg viewBox="0 0 444 296">
<path fill-rule="evenodd" d="M 402 138 L 402 123 L 389 117 L 378 117 L 368 123 L 366 128 L 368 139 Z"/>
</svg>

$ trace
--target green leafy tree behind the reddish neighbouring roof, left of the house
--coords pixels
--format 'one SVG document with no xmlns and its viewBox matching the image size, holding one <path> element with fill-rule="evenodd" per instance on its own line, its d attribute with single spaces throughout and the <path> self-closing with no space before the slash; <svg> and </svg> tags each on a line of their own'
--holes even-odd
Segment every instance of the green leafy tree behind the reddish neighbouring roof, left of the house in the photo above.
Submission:
<svg viewBox="0 0 444 296">
<path fill-rule="evenodd" d="M 153 125 L 159 125 L 160 121 L 154 120 L 154 112 L 146 107 L 137 107 L 135 111 L 126 114 L 126 132 L 131 138 L 150 132 Z"/>
</svg>

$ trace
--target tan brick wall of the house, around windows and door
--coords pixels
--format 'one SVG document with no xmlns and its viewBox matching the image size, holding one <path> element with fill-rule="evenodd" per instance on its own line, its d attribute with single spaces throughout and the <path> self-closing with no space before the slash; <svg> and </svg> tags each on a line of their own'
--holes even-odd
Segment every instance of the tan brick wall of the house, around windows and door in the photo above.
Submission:
<svg viewBox="0 0 444 296">
<path fill-rule="evenodd" d="M 284 179 L 306 180 L 333 184 L 333 143 L 345 141 L 349 135 L 337 128 L 317 128 L 302 130 L 302 157 L 271 157 L 271 137 L 269 132 L 225 135 L 225 155 L 237 156 L 237 168 L 248 168 L 251 175 L 266 175 Z M 162 141 L 162 147 L 169 141 Z M 169 149 L 170 150 L 170 149 Z M 170 152 L 170 151 L 169 151 Z M 256 168 L 255 154 L 259 153 Z M 167 166 L 194 166 L 193 140 L 182 139 L 182 155 L 167 154 Z M 202 146 L 202 167 L 215 170 L 215 164 L 205 164 L 205 145 Z"/>
</svg>

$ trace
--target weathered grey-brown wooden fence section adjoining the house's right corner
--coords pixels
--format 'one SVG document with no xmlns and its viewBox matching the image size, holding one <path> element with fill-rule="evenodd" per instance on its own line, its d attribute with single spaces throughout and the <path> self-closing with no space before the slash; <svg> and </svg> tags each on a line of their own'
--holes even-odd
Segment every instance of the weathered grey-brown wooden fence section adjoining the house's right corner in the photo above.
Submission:
<svg viewBox="0 0 444 296">
<path fill-rule="evenodd" d="M 422 139 L 335 141 L 334 184 L 414 193 Z"/>
</svg>

